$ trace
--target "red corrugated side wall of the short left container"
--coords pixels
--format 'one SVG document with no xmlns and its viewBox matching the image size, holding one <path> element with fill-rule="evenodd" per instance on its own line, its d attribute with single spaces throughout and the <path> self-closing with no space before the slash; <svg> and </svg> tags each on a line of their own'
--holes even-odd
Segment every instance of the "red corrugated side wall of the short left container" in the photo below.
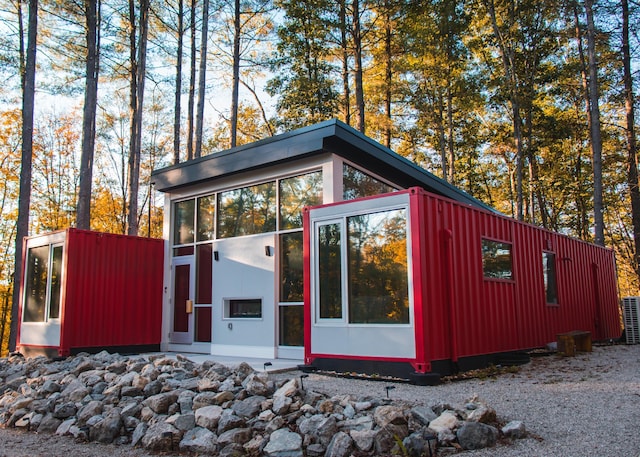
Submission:
<svg viewBox="0 0 640 457">
<path fill-rule="evenodd" d="M 163 244 L 69 229 L 61 352 L 160 343 Z"/>
</svg>

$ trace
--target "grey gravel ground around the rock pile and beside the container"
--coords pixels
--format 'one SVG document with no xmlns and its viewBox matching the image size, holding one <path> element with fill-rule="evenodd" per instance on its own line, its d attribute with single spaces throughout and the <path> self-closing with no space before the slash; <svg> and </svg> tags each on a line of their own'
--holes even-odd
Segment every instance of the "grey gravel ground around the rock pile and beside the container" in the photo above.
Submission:
<svg viewBox="0 0 640 457">
<path fill-rule="evenodd" d="M 300 372 L 274 377 L 300 376 Z M 330 395 L 386 397 L 412 404 L 463 405 L 477 394 L 504 421 L 521 420 L 535 437 L 461 457 L 640 457 L 640 345 L 595 346 L 576 357 L 536 357 L 518 372 L 435 387 L 310 374 L 305 388 Z M 55 435 L 0 428 L 0 457 L 148 456 L 128 446 L 75 443 Z"/>
</svg>

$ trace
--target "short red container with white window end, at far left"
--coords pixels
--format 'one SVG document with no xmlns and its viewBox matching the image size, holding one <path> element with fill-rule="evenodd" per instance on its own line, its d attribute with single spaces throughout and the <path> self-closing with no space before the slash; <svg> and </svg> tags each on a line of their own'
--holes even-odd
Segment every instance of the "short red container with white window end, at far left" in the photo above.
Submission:
<svg viewBox="0 0 640 457">
<path fill-rule="evenodd" d="M 46 245 L 63 247 L 59 314 L 26 322 L 29 249 Z M 163 256 L 164 241 L 155 238 L 74 228 L 26 238 L 18 350 L 49 356 L 159 350 Z"/>
</svg>

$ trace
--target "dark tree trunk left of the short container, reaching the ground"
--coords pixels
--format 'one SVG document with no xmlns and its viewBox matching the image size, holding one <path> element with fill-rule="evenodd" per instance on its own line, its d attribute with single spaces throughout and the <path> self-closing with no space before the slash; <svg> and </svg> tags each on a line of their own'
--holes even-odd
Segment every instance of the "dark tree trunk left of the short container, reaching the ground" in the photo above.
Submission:
<svg viewBox="0 0 640 457">
<path fill-rule="evenodd" d="M 29 234 L 29 210 L 31 207 L 31 165 L 33 163 L 33 112 L 36 86 L 36 40 L 38 34 L 38 0 L 29 0 L 29 24 L 27 31 L 26 64 L 22 90 L 22 163 L 20 167 L 20 197 L 16 227 L 14 283 L 22 277 L 22 239 Z M 22 36 L 20 37 L 22 39 Z M 18 304 L 20 287 L 13 288 L 9 351 L 16 350 L 18 335 Z"/>
</svg>

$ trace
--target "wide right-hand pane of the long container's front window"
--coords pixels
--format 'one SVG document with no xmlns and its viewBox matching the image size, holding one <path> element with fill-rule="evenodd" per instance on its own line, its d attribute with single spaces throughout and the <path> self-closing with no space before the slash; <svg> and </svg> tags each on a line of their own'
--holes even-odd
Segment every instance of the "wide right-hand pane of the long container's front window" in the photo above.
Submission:
<svg viewBox="0 0 640 457">
<path fill-rule="evenodd" d="M 408 324 L 406 211 L 352 216 L 347 226 L 349 322 Z"/>
</svg>

